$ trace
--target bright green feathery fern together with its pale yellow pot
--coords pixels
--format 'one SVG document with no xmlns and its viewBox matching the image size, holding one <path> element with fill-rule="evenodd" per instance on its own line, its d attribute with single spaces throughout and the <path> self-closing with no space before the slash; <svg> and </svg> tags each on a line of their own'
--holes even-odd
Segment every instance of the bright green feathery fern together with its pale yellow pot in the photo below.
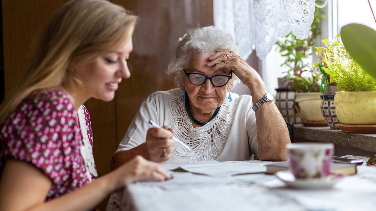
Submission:
<svg viewBox="0 0 376 211">
<path fill-rule="evenodd" d="M 338 120 L 341 124 L 351 125 L 344 126 L 347 128 L 376 125 L 376 79 L 364 71 L 341 43 L 339 45 L 343 47 L 340 54 L 324 52 L 322 58 L 327 66 L 323 67 L 324 71 L 341 90 L 334 97 Z"/>
</svg>

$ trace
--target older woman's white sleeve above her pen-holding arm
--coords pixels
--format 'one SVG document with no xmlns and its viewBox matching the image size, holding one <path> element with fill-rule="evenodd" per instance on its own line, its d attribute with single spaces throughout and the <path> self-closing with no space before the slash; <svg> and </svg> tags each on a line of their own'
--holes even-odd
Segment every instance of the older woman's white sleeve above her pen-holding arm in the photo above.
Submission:
<svg viewBox="0 0 376 211">
<path fill-rule="evenodd" d="M 144 101 L 141 103 L 140 109 L 136 113 L 135 118 L 133 118 L 133 121 L 130 123 L 128 130 L 124 135 L 123 140 L 121 140 L 116 152 L 132 149 L 146 142 L 146 133 L 151 127 L 149 124 L 150 119 L 159 124 L 155 107 Z"/>
</svg>

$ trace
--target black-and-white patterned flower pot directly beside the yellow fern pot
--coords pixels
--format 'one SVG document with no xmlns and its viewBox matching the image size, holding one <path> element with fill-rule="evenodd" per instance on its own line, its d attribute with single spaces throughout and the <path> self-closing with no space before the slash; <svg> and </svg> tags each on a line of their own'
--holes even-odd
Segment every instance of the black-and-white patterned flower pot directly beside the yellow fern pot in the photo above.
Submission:
<svg viewBox="0 0 376 211">
<path fill-rule="evenodd" d="M 321 114 L 324 116 L 327 124 L 332 129 L 340 129 L 337 127 L 338 119 L 335 113 L 335 95 L 320 95 L 321 100 Z"/>
</svg>

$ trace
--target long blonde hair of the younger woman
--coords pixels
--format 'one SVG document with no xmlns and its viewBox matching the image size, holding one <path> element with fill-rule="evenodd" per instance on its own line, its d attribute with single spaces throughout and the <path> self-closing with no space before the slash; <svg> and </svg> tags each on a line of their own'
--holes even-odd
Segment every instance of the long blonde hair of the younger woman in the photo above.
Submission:
<svg viewBox="0 0 376 211">
<path fill-rule="evenodd" d="M 34 90 L 81 81 L 70 68 L 115 51 L 130 39 L 137 17 L 106 0 L 71 0 L 45 26 L 26 74 L 0 107 L 0 124 Z"/>
</svg>

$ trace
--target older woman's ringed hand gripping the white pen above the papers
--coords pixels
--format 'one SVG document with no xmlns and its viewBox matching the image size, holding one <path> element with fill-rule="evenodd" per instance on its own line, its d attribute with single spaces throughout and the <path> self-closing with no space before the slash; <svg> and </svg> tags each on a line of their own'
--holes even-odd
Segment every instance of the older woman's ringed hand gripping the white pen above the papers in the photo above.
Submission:
<svg viewBox="0 0 376 211">
<path fill-rule="evenodd" d="M 173 130 L 168 126 L 150 128 L 146 134 L 147 158 L 155 162 L 164 162 L 170 159 L 172 147 L 175 143 L 172 137 Z M 162 156 L 164 154 L 167 154 L 167 156 Z"/>
</svg>

